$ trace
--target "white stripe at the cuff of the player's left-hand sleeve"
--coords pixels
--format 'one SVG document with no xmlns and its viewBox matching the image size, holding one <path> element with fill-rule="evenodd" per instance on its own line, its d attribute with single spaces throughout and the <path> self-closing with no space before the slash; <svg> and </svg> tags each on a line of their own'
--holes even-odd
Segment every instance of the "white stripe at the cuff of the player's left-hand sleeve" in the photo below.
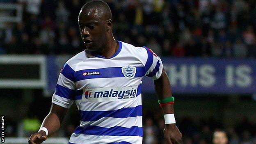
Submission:
<svg viewBox="0 0 256 144">
<path fill-rule="evenodd" d="M 71 105 L 73 104 L 73 100 L 68 99 L 68 98 L 63 98 L 61 96 L 53 94 L 52 103 L 62 106 L 62 107 L 65 107 L 65 108 L 70 108 Z"/>
</svg>

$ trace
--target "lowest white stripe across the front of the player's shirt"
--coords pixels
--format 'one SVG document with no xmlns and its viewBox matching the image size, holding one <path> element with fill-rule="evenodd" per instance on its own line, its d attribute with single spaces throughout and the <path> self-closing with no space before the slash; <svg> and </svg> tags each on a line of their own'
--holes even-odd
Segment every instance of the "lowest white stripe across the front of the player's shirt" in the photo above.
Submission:
<svg viewBox="0 0 256 144">
<path fill-rule="evenodd" d="M 130 142 L 132 144 L 142 144 L 140 136 L 109 136 L 109 135 L 85 135 L 73 133 L 69 142 L 75 144 L 109 144 L 111 142 Z"/>
</svg>

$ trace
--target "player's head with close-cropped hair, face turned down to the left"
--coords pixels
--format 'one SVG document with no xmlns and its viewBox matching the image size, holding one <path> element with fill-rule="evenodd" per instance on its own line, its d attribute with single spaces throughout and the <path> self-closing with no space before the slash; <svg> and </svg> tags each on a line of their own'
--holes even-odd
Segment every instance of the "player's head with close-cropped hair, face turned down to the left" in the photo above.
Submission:
<svg viewBox="0 0 256 144">
<path fill-rule="evenodd" d="M 80 10 L 78 25 L 82 40 L 90 51 L 101 50 L 112 38 L 112 13 L 101 0 L 87 2 Z"/>
</svg>

